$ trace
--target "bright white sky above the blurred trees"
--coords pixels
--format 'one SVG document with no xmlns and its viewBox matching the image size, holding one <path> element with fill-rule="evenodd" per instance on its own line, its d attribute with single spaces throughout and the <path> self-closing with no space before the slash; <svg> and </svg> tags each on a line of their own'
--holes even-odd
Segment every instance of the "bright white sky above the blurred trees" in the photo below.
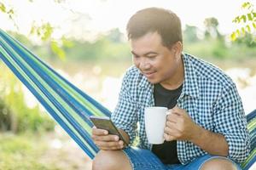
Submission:
<svg viewBox="0 0 256 170">
<path fill-rule="evenodd" d="M 32 3 L 30 3 L 32 1 Z M 28 34 L 32 23 L 40 25 L 49 22 L 55 27 L 54 36 L 72 35 L 91 38 L 99 32 L 119 28 L 125 33 L 125 26 L 132 14 L 147 7 L 168 8 L 181 19 L 183 26 L 197 26 L 204 29 L 207 17 L 218 19 L 218 29 L 223 34 L 234 31 L 232 20 L 241 14 L 241 3 L 245 0 L 0 0 L 7 8 L 14 8 L 15 22 L 19 31 Z M 256 5 L 256 0 L 249 2 Z M 0 14 L 0 27 L 14 30 L 14 24 Z"/>
</svg>

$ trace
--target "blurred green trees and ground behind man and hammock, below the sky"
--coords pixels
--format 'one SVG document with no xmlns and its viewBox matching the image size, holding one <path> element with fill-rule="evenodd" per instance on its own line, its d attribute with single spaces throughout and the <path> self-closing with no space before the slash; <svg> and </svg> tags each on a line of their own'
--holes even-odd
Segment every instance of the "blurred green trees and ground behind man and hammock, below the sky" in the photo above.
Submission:
<svg viewBox="0 0 256 170">
<path fill-rule="evenodd" d="M 9 20 L 14 19 L 15 12 L 8 9 L 6 3 L 0 3 L 0 9 Z M 255 29 L 230 41 L 229 34 L 218 30 L 217 18 L 206 18 L 202 24 L 204 30 L 196 26 L 183 27 L 183 51 L 226 71 L 236 82 L 245 110 L 253 111 L 256 102 Z M 93 40 L 86 40 L 65 35 L 57 39 L 51 37 L 54 31 L 55 28 L 46 23 L 31 26 L 29 36 L 19 33 L 19 29 L 8 32 L 112 111 L 121 77 L 132 64 L 124 33 L 113 28 Z M 90 169 L 90 166 L 90 159 L 79 146 L 0 62 L 0 169 Z"/>
</svg>

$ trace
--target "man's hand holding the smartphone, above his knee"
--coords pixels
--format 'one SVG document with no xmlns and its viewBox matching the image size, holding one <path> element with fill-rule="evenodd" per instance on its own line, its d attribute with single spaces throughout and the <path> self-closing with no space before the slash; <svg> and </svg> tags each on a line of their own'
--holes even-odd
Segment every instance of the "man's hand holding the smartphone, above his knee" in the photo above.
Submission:
<svg viewBox="0 0 256 170">
<path fill-rule="evenodd" d="M 92 127 L 91 138 L 100 150 L 121 150 L 125 144 L 119 136 L 108 134 L 107 130 Z"/>
</svg>

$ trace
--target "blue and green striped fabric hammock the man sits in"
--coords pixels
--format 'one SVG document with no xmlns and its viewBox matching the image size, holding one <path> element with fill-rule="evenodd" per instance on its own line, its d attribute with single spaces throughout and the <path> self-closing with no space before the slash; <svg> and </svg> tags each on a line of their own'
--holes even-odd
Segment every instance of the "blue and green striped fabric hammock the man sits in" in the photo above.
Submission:
<svg viewBox="0 0 256 170">
<path fill-rule="evenodd" d="M 26 85 L 44 108 L 91 159 L 99 150 L 90 139 L 89 116 L 110 116 L 111 112 L 61 77 L 20 42 L 0 29 L 0 58 Z M 252 139 L 250 156 L 242 164 L 248 169 L 256 161 L 256 110 L 247 115 Z"/>
</svg>

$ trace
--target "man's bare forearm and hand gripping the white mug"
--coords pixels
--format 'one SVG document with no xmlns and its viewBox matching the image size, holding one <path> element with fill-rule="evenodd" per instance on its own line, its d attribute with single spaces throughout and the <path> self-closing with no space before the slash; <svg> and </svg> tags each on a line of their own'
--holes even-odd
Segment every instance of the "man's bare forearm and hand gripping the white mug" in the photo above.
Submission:
<svg viewBox="0 0 256 170">
<path fill-rule="evenodd" d="M 177 106 L 167 116 L 165 139 L 188 140 L 217 156 L 228 156 L 229 145 L 222 134 L 212 133 L 195 124 L 189 114 Z"/>
</svg>

